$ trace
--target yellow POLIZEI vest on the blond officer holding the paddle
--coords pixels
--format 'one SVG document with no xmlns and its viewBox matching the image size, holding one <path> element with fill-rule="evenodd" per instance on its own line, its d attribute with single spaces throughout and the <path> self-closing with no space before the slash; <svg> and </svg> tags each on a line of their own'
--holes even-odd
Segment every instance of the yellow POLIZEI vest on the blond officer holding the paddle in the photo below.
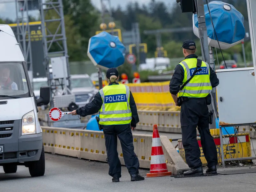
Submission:
<svg viewBox="0 0 256 192">
<path fill-rule="evenodd" d="M 131 123 L 130 89 L 127 85 L 107 85 L 100 89 L 100 96 L 102 98 L 102 106 L 99 124 L 119 125 Z"/>
</svg>

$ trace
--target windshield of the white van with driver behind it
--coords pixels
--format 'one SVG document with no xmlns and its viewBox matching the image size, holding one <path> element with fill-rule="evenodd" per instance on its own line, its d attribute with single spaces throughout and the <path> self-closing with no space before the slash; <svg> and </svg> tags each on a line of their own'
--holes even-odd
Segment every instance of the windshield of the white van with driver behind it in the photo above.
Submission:
<svg viewBox="0 0 256 192">
<path fill-rule="evenodd" d="M 28 83 L 22 62 L 0 63 L 0 96 L 29 97 Z M 0 99 L 4 99 L 0 97 Z"/>
</svg>

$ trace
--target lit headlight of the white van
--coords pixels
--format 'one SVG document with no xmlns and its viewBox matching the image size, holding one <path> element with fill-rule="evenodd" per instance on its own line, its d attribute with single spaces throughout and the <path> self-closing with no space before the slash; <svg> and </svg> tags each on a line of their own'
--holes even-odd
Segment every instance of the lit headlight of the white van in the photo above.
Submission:
<svg viewBox="0 0 256 192">
<path fill-rule="evenodd" d="M 34 110 L 22 117 L 21 135 L 36 134 L 36 122 Z"/>
</svg>

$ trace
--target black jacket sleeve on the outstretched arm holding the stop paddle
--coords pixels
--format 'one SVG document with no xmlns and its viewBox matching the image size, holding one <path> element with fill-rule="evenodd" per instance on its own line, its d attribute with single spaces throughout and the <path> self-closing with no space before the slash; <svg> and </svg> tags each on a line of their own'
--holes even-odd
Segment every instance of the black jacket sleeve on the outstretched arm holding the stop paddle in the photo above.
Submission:
<svg viewBox="0 0 256 192">
<path fill-rule="evenodd" d="M 101 106 L 102 106 L 102 99 L 100 96 L 100 92 L 97 92 L 91 103 L 88 103 L 84 107 L 76 109 L 76 114 L 82 117 L 92 115 L 92 114 L 98 113 Z"/>
</svg>

